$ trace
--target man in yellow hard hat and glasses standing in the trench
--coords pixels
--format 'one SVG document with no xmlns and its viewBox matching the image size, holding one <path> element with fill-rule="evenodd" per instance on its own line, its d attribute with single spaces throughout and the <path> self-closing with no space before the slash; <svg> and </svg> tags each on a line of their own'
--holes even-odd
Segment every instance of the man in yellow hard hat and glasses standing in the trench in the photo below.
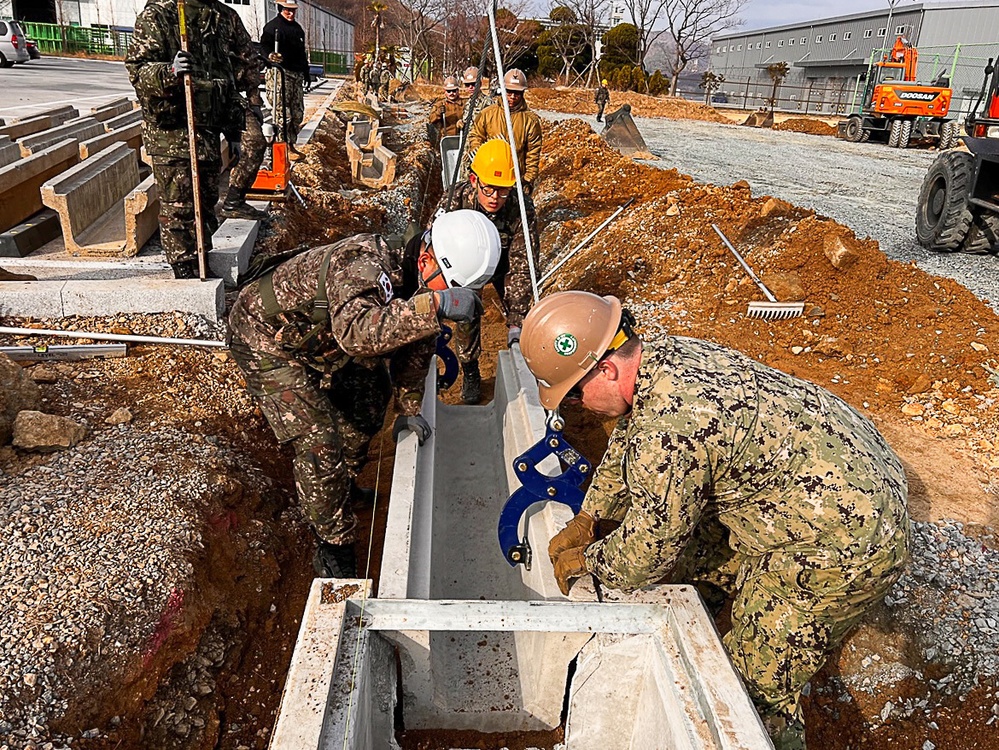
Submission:
<svg viewBox="0 0 999 750">
<path fill-rule="evenodd" d="M 490 279 L 507 324 L 507 346 L 520 340 L 520 327 L 531 307 L 533 294 L 531 273 L 527 263 L 527 243 L 520 220 L 520 201 L 513 188 L 513 152 L 506 141 L 494 138 L 486 141 L 472 158 L 468 179 L 454 189 L 453 209 L 471 209 L 484 214 L 499 231 L 502 254 L 496 273 Z M 534 262 L 538 263 L 538 222 L 534 202 L 524 196 L 527 224 L 531 233 Z M 441 198 L 437 215 L 446 211 L 448 196 Z M 482 318 L 475 316 L 467 323 L 454 327 L 454 344 L 461 362 L 461 398 L 466 404 L 482 400 L 482 375 L 479 357 L 482 354 Z"/>
</svg>

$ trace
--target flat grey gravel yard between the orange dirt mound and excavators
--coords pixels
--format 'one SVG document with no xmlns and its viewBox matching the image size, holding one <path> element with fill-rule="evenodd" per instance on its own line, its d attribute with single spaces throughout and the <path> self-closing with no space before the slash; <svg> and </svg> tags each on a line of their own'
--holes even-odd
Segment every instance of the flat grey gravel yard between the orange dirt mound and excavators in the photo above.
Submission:
<svg viewBox="0 0 999 750">
<path fill-rule="evenodd" d="M 542 114 L 582 119 L 599 132 L 592 116 Z M 698 182 L 747 180 L 753 195 L 773 195 L 835 219 L 858 237 L 877 240 L 889 258 L 959 281 L 999 310 L 999 257 L 933 253 L 916 243 L 916 199 L 936 151 L 693 120 L 635 122 L 659 158 L 648 164 Z"/>
</svg>

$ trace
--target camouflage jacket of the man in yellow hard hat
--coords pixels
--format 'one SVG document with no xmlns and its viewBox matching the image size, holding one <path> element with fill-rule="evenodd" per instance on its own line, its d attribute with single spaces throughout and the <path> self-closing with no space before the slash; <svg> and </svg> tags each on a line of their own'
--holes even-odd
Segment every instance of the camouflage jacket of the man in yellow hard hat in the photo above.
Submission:
<svg viewBox="0 0 999 750">
<path fill-rule="evenodd" d="M 448 210 L 447 191 L 441 196 L 440 203 L 434 215 Z M 527 213 L 527 226 L 531 232 L 531 247 L 534 250 L 534 268 L 538 268 L 538 220 L 534 213 L 534 201 L 528 196 L 524 196 Z M 494 277 L 515 274 L 526 277 L 527 287 L 530 289 L 530 268 L 527 264 L 527 243 L 524 242 L 524 229 L 520 221 L 520 203 L 517 199 L 516 189 L 510 191 L 509 197 L 503 207 L 494 214 L 489 213 L 479 203 L 475 195 L 475 187 L 471 182 L 465 180 L 459 182 L 454 188 L 454 201 L 451 204 L 451 211 L 461 208 L 470 208 L 484 214 L 496 227 L 500 234 L 500 245 L 502 248 L 499 264 L 496 266 Z M 509 284 L 507 284 L 509 286 Z M 513 315 L 514 320 L 523 320 L 530 309 L 531 298 L 528 297 L 518 304 L 510 306 L 507 314 Z M 519 306 L 518 306 L 519 305 Z M 523 307 L 523 309 L 521 309 Z"/>
</svg>

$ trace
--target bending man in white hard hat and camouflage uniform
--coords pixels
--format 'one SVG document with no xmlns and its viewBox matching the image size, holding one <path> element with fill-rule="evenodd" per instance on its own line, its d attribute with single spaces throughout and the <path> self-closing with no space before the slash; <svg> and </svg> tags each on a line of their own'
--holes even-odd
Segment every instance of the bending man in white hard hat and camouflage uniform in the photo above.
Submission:
<svg viewBox="0 0 999 750">
<path fill-rule="evenodd" d="M 393 390 L 395 434 L 429 437 L 419 412 L 439 320 L 476 314 L 473 288 L 492 276 L 499 253 L 495 227 L 457 211 L 402 250 L 359 234 L 303 252 L 240 292 L 229 314 L 232 355 L 278 441 L 294 447 L 319 575 L 356 575 L 352 506 L 363 492 L 354 480 L 368 442 Z"/>
</svg>

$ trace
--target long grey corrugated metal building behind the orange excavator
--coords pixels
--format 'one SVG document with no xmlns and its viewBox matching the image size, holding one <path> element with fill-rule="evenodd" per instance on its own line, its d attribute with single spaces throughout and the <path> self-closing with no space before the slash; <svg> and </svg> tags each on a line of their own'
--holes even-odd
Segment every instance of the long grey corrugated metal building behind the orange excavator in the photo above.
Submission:
<svg viewBox="0 0 999 750">
<path fill-rule="evenodd" d="M 951 114 L 967 112 L 989 57 L 999 57 L 999 0 L 896 5 L 806 23 L 730 32 L 712 39 L 711 70 L 725 76 L 729 104 L 764 106 L 773 91 L 767 66 L 786 62 L 777 108 L 821 114 L 854 111 L 868 65 L 898 35 L 919 49 L 918 78 L 940 76 L 954 89 Z"/>
</svg>

